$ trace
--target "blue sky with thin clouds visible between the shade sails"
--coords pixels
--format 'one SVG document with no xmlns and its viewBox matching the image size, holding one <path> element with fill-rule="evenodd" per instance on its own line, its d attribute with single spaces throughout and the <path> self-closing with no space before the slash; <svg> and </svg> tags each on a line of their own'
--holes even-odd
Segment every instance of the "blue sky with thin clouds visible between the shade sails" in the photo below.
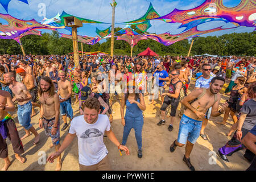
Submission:
<svg viewBox="0 0 256 182">
<path fill-rule="evenodd" d="M 0 0 L 1 1 L 1 0 Z M 143 16 L 150 2 L 154 9 L 160 16 L 170 13 L 172 10 L 180 9 L 187 10 L 201 5 L 205 0 L 116 0 L 118 5 L 115 9 L 115 23 L 127 22 L 130 20 L 138 19 Z M 42 20 L 44 17 L 38 15 L 39 4 L 46 5 L 46 18 L 52 18 L 57 13 L 65 11 L 68 14 L 79 16 L 82 18 L 98 20 L 101 22 L 111 23 L 112 21 L 112 7 L 110 6 L 112 0 L 28 0 L 29 5 L 18 0 L 11 0 L 9 4 L 9 14 L 15 18 L 37 21 Z M 234 7 L 238 5 L 240 0 L 223 0 L 224 5 L 227 7 Z M 6 14 L 5 9 L 0 5 L 0 13 Z M 1 20 L 0 20 L 1 22 Z M 160 20 L 151 20 L 152 27 L 148 29 L 150 33 L 162 34 L 170 31 L 171 34 L 179 34 L 184 29 L 178 27 L 181 23 L 165 23 Z M 201 24 L 199 30 L 209 30 L 222 26 L 223 28 L 234 27 L 232 23 L 225 23 L 216 21 L 214 23 Z M 100 30 L 108 28 L 110 24 L 84 24 L 79 28 L 79 35 L 96 36 L 96 27 Z M 125 24 L 115 24 L 115 27 L 124 27 Z M 234 30 L 223 30 L 205 34 L 203 36 L 215 36 L 222 34 L 229 34 L 233 32 L 251 32 L 253 27 L 238 27 Z M 49 32 L 49 31 L 43 31 Z M 59 32 L 69 34 L 69 31 L 60 30 Z"/>
</svg>

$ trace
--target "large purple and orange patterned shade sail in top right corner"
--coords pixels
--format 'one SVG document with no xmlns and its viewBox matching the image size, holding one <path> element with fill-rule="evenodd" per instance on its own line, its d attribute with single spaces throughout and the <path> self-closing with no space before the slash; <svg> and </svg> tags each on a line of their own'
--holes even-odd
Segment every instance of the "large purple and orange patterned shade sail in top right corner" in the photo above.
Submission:
<svg viewBox="0 0 256 182">
<path fill-rule="evenodd" d="M 189 23 L 205 18 L 224 18 L 233 24 L 255 27 L 256 1 L 241 0 L 236 7 L 225 7 L 223 0 L 206 0 L 202 5 L 190 10 L 177 10 L 155 19 L 170 19 L 172 23 Z"/>
</svg>

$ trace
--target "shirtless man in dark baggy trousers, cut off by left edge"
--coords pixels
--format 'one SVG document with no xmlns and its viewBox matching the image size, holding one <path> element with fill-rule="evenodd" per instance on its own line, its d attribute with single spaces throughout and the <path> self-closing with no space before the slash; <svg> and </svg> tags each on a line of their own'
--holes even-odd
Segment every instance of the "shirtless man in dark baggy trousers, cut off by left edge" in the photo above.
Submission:
<svg viewBox="0 0 256 182">
<path fill-rule="evenodd" d="M 9 137 L 13 146 L 15 158 L 21 163 L 25 162 L 25 159 L 20 156 L 24 153 L 22 142 L 19 138 L 15 122 L 11 119 L 11 115 L 8 113 L 9 111 L 15 111 L 11 95 L 9 92 L 0 90 L 0 127 L 3 129 L 0 132 L 0 158 L 5 160 L 5 166 L 1 171 L 6 171 L 11 165 L 8 157 L 8 147 L 5 141 L 7 137 Z"/>
</svg>

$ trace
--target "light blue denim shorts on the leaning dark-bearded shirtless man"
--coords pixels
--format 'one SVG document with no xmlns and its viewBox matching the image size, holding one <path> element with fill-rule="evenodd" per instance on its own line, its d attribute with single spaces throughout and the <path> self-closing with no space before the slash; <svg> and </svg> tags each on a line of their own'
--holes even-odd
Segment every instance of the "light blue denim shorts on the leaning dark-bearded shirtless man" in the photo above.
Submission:
<svg viewBox="0 0 256 182">
<path fill-rule="evenodd" d="M 188 140 L 189 142 L 195 144 L 197 138 L 199 138 L 201 127 L 202 121 L 191 119 L 187 117 L 187 115 L 183 114 L 180 120 L 177 142 L 185 144 Z"/>
</svg>

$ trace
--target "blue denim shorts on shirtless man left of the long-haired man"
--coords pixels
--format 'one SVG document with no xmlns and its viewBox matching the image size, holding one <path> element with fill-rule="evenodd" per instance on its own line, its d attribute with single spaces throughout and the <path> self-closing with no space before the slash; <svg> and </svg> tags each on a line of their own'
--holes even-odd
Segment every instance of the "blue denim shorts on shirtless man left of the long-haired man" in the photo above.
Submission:
<svg viewBox="0 0 256 182">
<path fill-rule="evenodd" d="M 32 113 L 31 101 L 29 101 L 23 105 L 18 105 L 18 113 L 17 114 L 18 114 L 19 123 L 26 130 L 29 130 L 32 127 L 32 125 L 30 124 L 31 113 Z"/>
</svg>

